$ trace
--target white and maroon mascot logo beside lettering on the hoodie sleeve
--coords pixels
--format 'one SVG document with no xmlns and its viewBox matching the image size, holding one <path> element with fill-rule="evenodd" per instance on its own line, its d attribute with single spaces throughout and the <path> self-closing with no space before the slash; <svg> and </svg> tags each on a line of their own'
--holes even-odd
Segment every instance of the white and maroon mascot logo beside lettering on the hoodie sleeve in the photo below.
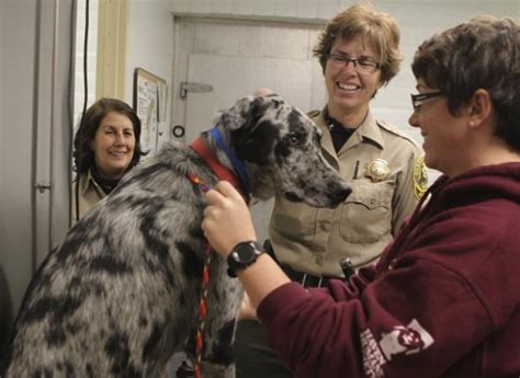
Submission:
<svg viewBox="0 0 520 378">
<path fill-rule="evenodd" d="M 380 347 L 386 359 L 392 360 L 395 354 L 419 353 L 433 344 L 433 337 L 414 319 L 408 325 L 396 325 L 388 333 L 383 333 Z"/>
</svg>

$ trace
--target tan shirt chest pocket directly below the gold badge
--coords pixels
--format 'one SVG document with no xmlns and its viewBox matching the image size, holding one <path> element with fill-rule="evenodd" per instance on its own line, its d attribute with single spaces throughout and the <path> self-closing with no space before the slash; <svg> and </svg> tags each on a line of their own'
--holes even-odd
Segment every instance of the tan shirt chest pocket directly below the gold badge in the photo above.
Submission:
<svg viewBox="0 0 520 378">
<path fill-rule="evenodd" d="M 394 182 L 352 182 L 352 193 L 342 204 L 339 231 L 344 241 L 373 243 L 392 231 Z"/>
</svg>

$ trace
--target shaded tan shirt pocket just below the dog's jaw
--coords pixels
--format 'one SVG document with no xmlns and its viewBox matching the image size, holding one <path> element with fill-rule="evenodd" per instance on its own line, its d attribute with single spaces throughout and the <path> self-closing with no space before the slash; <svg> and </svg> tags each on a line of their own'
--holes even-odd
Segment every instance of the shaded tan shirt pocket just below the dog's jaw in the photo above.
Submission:
<svg viewBox="0 0 520 378">
<path fill-rule="evenodd" d="M 285 237 L 314 234 L 317 208 L 276 198 L 271 218 L 271 227 Z"/>
</svg>

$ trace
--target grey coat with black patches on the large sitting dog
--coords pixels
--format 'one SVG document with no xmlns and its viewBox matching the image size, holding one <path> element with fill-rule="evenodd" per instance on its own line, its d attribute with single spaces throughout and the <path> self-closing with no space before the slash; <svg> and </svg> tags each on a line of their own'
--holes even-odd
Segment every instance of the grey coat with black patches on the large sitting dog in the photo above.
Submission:
<svg viewBox="0 0 520 378">
<path fill-rule="evenodd" d="M 334 207 L 350 187 L 324 160 L 320 133 L 278 95 L 245 98 L 216 126 L 244 162 L 252 196 Z M 231 162 L 210 133 L 219 164 Z M 8 377 L 166 377 L 196 329 L 205 206 L 194 174 L 217 177 L 195 151 L 171 144 L 127 173 L 44 261 L 15 322 Z M 211 265 L 203 376 L 233 377 L 241 287 Z"/>
</svg>

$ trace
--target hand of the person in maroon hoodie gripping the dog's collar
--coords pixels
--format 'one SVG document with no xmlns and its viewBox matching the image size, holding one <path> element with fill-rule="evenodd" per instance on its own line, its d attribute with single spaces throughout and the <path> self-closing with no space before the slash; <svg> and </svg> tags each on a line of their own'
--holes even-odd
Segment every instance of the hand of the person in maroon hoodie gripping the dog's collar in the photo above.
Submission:
<svg viewBox="0 0 520 378">
<path fill-rule="evenodd" d="M 202 229 L 213 249 L 224 257 L 242 241 L 257 240 L 251 215 L 241 195 L 227 181 L 206 193 Z"/>
</svg>

